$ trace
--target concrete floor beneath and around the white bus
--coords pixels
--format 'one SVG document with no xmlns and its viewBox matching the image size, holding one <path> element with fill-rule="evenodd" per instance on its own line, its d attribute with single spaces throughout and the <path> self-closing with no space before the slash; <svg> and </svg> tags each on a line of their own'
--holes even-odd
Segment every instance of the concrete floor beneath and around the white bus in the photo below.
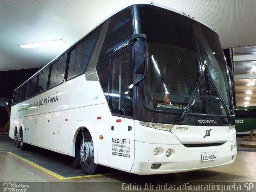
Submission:
<svg viewBox="0 0 256 192">
<path fill-rule="evenodd" d="M 124 188 L 126 186 L 124 183 L 136 183 L 143 187 L 152 182 L 154 184 L 250 182 L 254 185 L 250 191 L 256 191 L 256 148 L 240 147 L 240 142 L 244 142 L 242 137 L 237 138 L 236 160 L 228 166 L 150 176 L 139 176 L 105 168 L 101 174 L 85 176 L 80 169 L 72 166 L 72 158 L 68 156 L 36 147 L 22 151 L 16 148 L 14 141 L 8 135 L 0 135 L 0 182 L 28 182 L 30 187 L 27 191 L 36 192 L 84 191 L 85 189 L 86 192 L 132 190 L 129 187 Z M 2 189 L 0 185 L 0 191 Z"/>
</svg>

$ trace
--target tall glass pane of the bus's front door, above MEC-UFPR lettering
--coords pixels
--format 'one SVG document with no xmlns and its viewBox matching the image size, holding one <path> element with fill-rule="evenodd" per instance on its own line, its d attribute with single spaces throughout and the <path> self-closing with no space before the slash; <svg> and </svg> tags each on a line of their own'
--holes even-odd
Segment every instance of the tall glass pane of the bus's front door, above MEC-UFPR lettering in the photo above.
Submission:
<svg viewBox="0 0 256 192">
<path fill-rule="evenodd" d="M 110 58 L 109 105 L 113 114 L 133 116 L 132 46 Z"/>
</svg>

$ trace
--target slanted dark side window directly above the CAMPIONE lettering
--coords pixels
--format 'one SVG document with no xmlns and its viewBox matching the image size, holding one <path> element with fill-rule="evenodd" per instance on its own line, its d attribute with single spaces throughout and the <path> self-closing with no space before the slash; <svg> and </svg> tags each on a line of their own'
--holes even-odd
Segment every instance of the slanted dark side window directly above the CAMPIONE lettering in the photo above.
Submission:
<svg viewBox="0 0 256 192">
<path fill-rule="evenodd" d="M 118 46 L 122 46 L 129 42 L 132 38 L 132 34 L 131 11 L 128 9 L 114 15 L 110 21 L 110 26 L 102 47 L 101 56 L 111 51 L 113 52 L 114 49 L 118 48 Z"/>
</svg>

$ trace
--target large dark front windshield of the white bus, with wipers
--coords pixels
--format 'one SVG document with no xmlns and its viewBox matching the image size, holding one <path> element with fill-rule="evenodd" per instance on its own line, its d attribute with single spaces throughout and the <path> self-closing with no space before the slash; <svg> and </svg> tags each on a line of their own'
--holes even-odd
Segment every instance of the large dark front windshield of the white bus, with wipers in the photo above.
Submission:
<svg viewBox="0 0 256 192">
<path fill-rule="evenodd" d="M 146 106 L 173 114 L 187 108 L 189 113 L 229 115 L 224 108 L 232 110 L 230 83 L 217 34 L 167 10 L 138 10 L 140 32 L 148 36 Z"/>
</svg>

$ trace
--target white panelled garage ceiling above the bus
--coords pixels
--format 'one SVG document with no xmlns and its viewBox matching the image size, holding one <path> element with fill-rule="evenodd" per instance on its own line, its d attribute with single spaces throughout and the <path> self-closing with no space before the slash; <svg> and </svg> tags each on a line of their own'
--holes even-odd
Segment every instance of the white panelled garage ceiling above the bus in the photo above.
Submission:
<svg viewBox="0 0 256 192">
<path fill-rule="evenodd" d="M 43 67 L 107 16 L 132 2 L 138 0 L 0 0 L 0 71 Z M 218 32 L 223 48 L 256 45 L 256 0 L 151 2 L 180 10 L 208 24 Z M 58 39 L 66 43 L 47 48 L 18 46 Z M 249 54 L 256 53 L 255 47 L 252 48 L 254 51 Z M 250 72 L 253 62 L 234 63 L 235 75 L 255 77 Z M 248 78 L 243 77 L 236 79 L 236 85 L 246 86 Z M 239 103 L 244 105 L 242 100 Z"/>
</svg>

